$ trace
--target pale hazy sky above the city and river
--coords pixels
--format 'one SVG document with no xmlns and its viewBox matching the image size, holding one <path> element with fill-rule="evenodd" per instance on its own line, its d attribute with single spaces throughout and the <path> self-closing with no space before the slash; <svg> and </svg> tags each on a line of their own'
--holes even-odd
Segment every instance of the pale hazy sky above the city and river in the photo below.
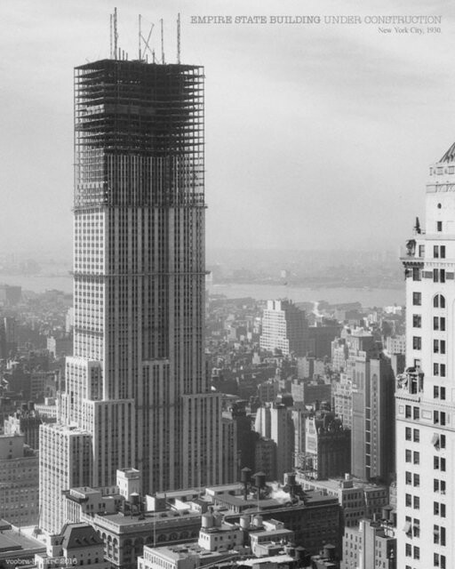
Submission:
<svg viewBox="0 0 455 569">
<path fill-rule="evenodd" d="M 108 57 L 109 13 L 137 53 L 165 21 L 175 61 L 205 66 L 209 247 L 395 248 L 423 214 L 427 166 L 455 140 L 451 1 L 2 0 L 0 252 L 68 251 L 73 68 Z M 208 15 L 437 15 L 373 24 L 196 25 Z M 441 33 L 427 33 L 427 28 Z M 147 30 L 144 29 L 144 32 Z"/>
</svg>

